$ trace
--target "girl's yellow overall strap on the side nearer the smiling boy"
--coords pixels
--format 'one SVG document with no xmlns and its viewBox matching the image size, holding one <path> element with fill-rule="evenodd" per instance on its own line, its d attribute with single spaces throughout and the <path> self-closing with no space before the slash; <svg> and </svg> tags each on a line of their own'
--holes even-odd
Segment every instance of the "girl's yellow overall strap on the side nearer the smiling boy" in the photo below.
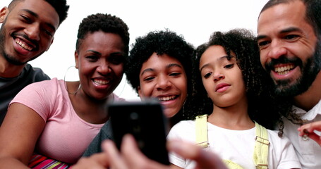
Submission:
<svg viewBox="0 0 321 169">
<path fill-rule="evenodd" d="M 207 142 L 207 114 L 198 115 L 195 119 L 196 144 L 206 148 Z"/>
</svg>

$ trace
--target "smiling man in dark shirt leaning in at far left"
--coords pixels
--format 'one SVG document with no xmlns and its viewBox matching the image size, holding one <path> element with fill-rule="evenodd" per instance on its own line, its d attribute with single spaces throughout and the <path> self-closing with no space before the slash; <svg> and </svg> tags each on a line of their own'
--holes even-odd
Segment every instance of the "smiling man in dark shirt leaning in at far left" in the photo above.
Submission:
<svg viewBox="0 0 321 169">
<path fill-rule="evenodd" d="M 8 104 L 32 82 L 49 80 L 28 61 L 47 51 L 67 17 L 66 0 L 13 0 L 0 11 L 0 125 Z"/>
</svg>

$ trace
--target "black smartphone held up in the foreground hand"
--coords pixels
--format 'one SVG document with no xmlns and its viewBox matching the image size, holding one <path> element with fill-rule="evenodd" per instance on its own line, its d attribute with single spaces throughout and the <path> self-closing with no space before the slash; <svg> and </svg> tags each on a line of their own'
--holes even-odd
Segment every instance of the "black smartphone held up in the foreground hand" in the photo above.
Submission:
<svg viewBox="0 0 321 169">
<path fill-rule="evenodd" d="M 167 120 L 158 101 L 114 102 L 107 106 L 118 149 L 124 134 L 132 134 L 148 158 L 169 165 L 166 149 Z"/>
</svg>

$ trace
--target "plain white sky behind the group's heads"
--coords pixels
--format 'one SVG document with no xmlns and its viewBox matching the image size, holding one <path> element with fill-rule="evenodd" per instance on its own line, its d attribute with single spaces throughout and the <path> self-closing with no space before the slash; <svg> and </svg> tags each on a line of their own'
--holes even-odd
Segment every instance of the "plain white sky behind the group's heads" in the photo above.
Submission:
<svg viewBox="0 0 321 169">
<path fill-rule="evenodd" d="M 0 0 L 0 7 L 8 6 L 10 1 Z M 257 35 L 258 15 L 266 3 L 267 0 L 67 0 L 68 17 L 56 31 L 54 43 L 30 64 L 42 68 L 49 77 L 76 80 L 78 73 L 68 68 L 75 65 L 78 26 L 87 15 L 108 13 L 121 18 L 129 27 L 130 45 L 148 32 L 168 29 L 197 47 L 215 31 L 246 28 Z M 126 82 L 126 75 L 114 93 L 128 101 L 140 100 Z"/>
</svg>

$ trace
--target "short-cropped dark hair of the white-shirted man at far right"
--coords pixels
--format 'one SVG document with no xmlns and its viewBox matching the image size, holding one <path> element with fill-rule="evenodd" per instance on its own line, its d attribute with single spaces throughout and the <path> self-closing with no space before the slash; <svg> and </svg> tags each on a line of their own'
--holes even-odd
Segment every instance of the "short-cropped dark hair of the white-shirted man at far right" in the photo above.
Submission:
<svg viewBox="0 0 321 169">
<path fill-rule="evenodd" d="M 305 20 L 309 23 L 317 35 L 317 39 L 321 36 L 321 1 L 320 0 L 269 0 L 267 4 L 263 6 L 260 14 L 279 4 L 289 4 L 293 1 L 302 1 L 305 5 Z"/>
</svg>

